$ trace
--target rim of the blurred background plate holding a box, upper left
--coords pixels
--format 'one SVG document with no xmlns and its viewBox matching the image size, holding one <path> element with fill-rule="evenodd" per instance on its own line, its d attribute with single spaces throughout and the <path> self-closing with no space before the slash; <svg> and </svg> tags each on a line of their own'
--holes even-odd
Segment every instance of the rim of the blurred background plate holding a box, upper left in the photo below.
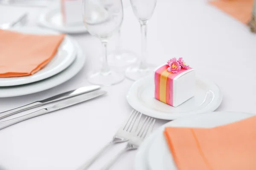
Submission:
<svg viewBox="0 0 256 170">
<path fill-rule="evenodd" d="M 44 10 L 44 12 L 42 12 L 39 15 L 37 24 L 39 26 L 43 26 L 43 27 L 46 27 L 48 29 L 53 29 L 55 31 L 62 32 L 62 33 L 67 33 L 67 34 L 87 33 L 87 29 L 84 25 L 65 27 L 65 26 L 56 26 L 56 25 L 53 25 L 50 22 L 48 22 L 46 17 L 50 13 L 58 13 L 59 10 L 60 9 L 58 9 L 58 7 L 51 7 L 51 8 L 48 8 L 48 9 Z"/>
</svg>

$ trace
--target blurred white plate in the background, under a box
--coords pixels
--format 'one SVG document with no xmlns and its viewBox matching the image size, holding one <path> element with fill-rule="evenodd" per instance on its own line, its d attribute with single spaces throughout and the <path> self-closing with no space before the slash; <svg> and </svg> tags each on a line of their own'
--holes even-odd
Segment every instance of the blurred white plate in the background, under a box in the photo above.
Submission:
<svg viewBox="0 0 256 170">
<path fill-rule="evenodd" d="M 77 25 L 65 25 L 62 22 L 61 10 L 59 8 L 49 8 L 43 12 L 39 17 L 38 25 L 67 34 L 79 34 L 87 32 L 87 29 L 83 23 Z"/>
</svg>

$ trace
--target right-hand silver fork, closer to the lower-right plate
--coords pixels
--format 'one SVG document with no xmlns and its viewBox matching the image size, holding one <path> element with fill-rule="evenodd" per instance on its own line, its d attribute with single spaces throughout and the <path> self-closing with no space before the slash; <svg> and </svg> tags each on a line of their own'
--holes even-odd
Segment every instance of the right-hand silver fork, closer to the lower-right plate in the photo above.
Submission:
<svg viewBox="0 0 256 170">
<path fill-rule="evenodd" d="M 144 138 L 152 132 L 156 119 L 150 118 L 148 116 L 145 117 L 142 126 L 139 130 L 134 133 L 126 145 L 125 149 L 119 152 L 108 164 L 106 164 L 101 170 L 108 170 L 110 169 L 113 164 L 128 150 L 136 150 Z"/>
</svg>

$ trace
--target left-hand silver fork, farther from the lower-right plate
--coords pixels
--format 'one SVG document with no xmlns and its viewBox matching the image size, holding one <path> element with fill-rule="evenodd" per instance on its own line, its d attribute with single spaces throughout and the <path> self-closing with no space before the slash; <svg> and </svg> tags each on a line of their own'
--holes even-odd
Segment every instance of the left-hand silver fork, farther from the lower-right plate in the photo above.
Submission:
<svg viewBox="0 0 256 170">
<path fill-rule="evenodd" d="M 113 136 L 112 141 L 102 147 L 96 155 L 90 158 L 87 162 L 81 165 L 77 170 L 87 170 L 97 158 L 99 158 L 102 153 L 104 153 L 111 145 L 121 142 L 126 142 L 130 138 L 131 132 L 136 131 L 140 122 L 141 113 L 137 110 L 132 110 L 128 121 L 124 126 L 120 127 L 116 134 Z"/>
</svg>

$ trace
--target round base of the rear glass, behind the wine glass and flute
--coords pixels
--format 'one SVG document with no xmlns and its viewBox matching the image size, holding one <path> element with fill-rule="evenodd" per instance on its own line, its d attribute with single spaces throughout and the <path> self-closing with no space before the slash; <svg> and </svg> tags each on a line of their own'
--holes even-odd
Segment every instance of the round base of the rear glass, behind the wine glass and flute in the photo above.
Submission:
<svg viewBox="0 0 256 170">
<path fill-rule="evenodd" d="M 137 55 L 129 50 L 111 52 L 108 55 L 108 63 L 115 67 L 128 67 L 137 61 Z"/>
</svg>

